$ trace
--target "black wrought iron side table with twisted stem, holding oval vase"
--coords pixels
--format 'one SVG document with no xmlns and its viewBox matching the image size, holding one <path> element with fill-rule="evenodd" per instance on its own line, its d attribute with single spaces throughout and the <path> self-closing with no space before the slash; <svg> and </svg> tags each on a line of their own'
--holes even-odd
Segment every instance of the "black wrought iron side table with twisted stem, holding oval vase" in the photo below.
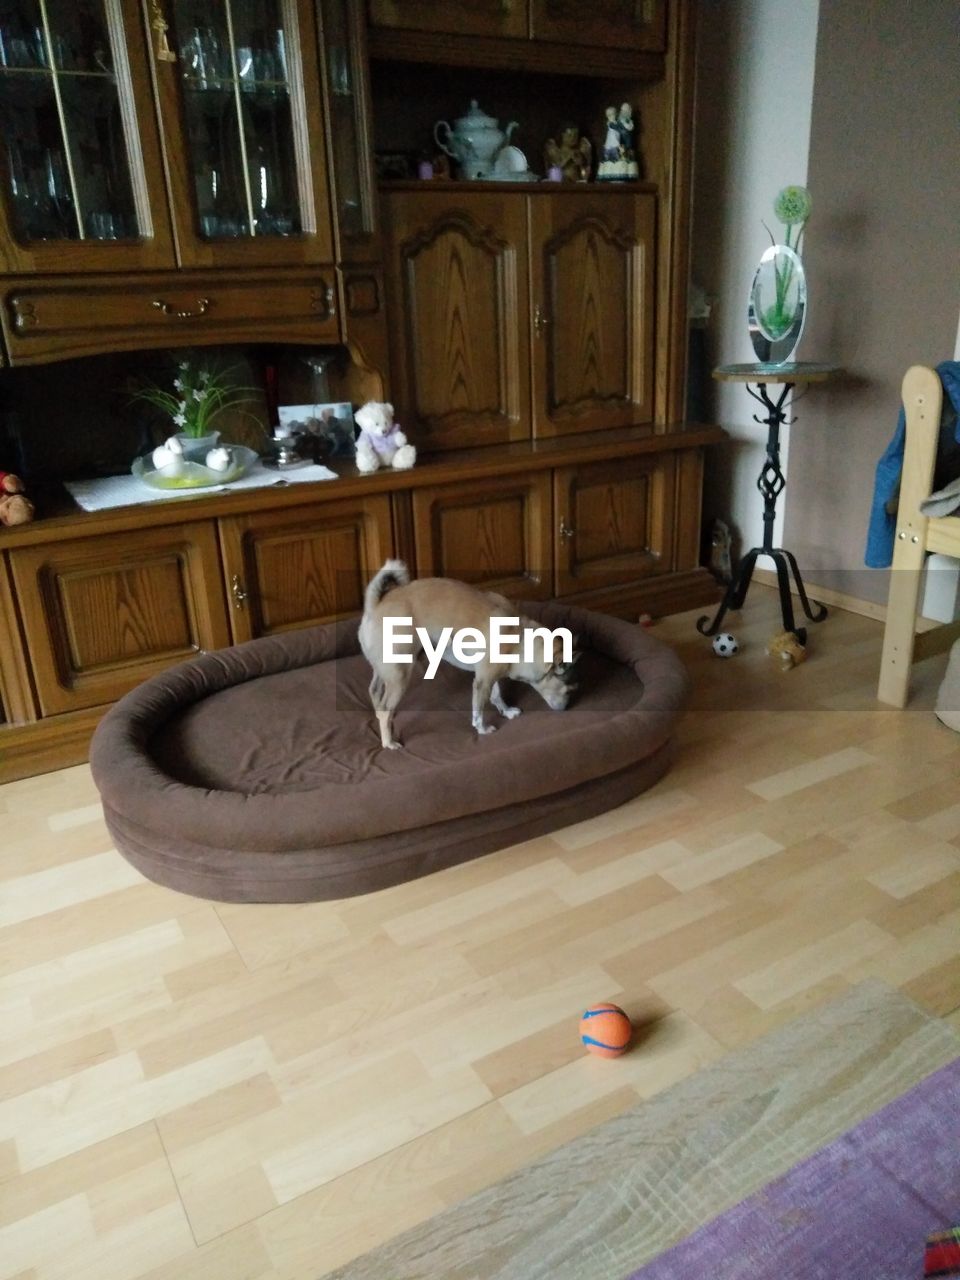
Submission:
<svg viewBox="0 0 960 1280">
<path fill-rule="evenodd" d="M 783 492 L 786 477 L 780 467 L 780 429 L 787 421 L 783 404 L 787 396 L 795 387 L 806 387 L 809 383 L 826 383 L 838 374 L 836 365 L 791 364 L 791 365 L 721 365 L 714 369 L 713 376 L 719 381 L 744 383 L 746 390 L 755 401 L 767 410 L 767 417 L 754 413 L 755 422 L 763 422 L 768 428 L 767 433 L 767 460 L 756 480 L 756 488 L 763 494 L 763 544 L 751 548 L 740 561 L 733 580 L 726 590 L 713 622 L 705 613 L 698 620 L 696 630 L 700 635 L 713 636 L 721 628 L 728 609 L 740 609 L 746 599 L 750 579 L 754 573 L 758 556 L 769 556 L 777 566 L 777 586 L 780 588 L 780 609 L 783 616 L 783 630 L 792 631 L 803 644 L 806 640 L 806 628 L 797 627 L 794 618 L 794 600 L 790 593 L 790 575 L 792 572 L 796 582 L 796 591 L 800 604 L 810 622 L 822 622 L 827 617 L 827 609 L 819 602 L 813 603 L 806 596 L 804 580 L 800 576 L 796 558 L 785 547 L 773 545 L 773 521 L 777 515 L 777 498 Z M 750 385 L 750 384 L 754 385 Z M 767 388 L 782 388 L 776 399 L 771 399 Z M 795 422 L 796 419 L 790 419 Z M 709 626 L 705 623 L 709 622 Z"/>
</svg>

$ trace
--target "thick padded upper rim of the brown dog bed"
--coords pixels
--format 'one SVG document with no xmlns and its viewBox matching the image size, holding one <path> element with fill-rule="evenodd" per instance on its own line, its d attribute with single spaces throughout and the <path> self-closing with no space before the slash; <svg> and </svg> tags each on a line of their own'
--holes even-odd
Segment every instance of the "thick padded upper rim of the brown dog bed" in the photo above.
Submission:
<svg viewBox="0 0 960 1280">
<path fill-rule="evenodd" d="M 644 685 L 640 704 L 576 733 L 577 753 L 554 751 L 550 769 L 530 778 L 524 804 L 564 792 L 586 781 L 602 781 L 655 753 L 669 737 L 687 689 L 680 658 L 646 636 L 634 623 L 557 602 L 518 603 L 518 609 L 552 627 L 568 626 L 599 652 L 631 667 Z M 91 745 L 91 769 L 105 812 L 114 822 L 132 828 L 164 832 L 166 840 L 197 849 L 236 846 L 252 852 L 293 852 L 328 847 L 346 841 L 392 837 L 410 778 L 397 774 L 376 783 L 376 805 L 357 817 L 344 805 L 342 785 L 326 783 L 311 791 L 288 795 L 243 795 L 191 787 L 165 774 L 148 756 L 147 742 L 157 728 L 183 707 L 233 684 L 275 675 L 334 657 L 358 654 L 357 622 L 337 623 L 284 632 L 205 654 L 155 676 L 127 694 L 101 721 Z M 499 735 L 498 735 L 499 736 Z M 562 714 L 557 718 L 563 736 Z M 584 745 L 589 745 L 585 777 Z M 509 762 L 509 748 L 500 748 L 498 763 Z M 516 746 L 518 771 L 529 764 L 527 744 Z M 526 771 L 525 771 L 526 772 Z M 440 765 L 430 773 L 431 827 L 461 817 L 477 818 L 500 806 L 494 780 L 483 771 L 471 776 L 470 794 L 463 792 L 462 762 Z M 417 831 L 408 812 L 406 827 Z M 283 841 L 278 846 L 278 831 Z M 202 844 L 198 844 L 202 842 Z"/>
</svg>

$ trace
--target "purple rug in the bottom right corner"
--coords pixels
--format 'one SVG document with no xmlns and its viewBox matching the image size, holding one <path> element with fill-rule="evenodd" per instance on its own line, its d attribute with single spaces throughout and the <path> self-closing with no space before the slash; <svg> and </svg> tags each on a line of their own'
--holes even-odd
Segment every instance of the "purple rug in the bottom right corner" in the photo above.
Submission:
<svg viewBox="0 0 960 1280">
<path fill-rule="evenodd" d="M 960 1059 L 628 1280 L 916 1280 L 960 1221 Z"/>
</svg>

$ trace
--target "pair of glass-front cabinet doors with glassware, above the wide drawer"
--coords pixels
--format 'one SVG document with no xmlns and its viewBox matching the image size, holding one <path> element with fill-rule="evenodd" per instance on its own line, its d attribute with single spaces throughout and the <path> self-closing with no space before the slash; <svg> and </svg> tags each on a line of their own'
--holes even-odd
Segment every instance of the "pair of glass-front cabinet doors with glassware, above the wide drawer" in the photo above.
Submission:
<svg viewBox="0 0 960 1280">
<path fill-rule="evenodd" d="M 0 0 L 3 265 L 330 261 L 317 58 L 311 0 Z"/>
</svg>

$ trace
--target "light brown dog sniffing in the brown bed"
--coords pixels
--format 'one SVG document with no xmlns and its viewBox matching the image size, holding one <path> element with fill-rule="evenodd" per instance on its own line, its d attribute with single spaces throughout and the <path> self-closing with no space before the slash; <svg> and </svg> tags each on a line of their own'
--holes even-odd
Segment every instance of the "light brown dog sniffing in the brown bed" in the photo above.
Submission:
<svg viewBox="0 0 960 1280">
<path fill-rule="evenodd" d="M 410 618 L 411 625 L 398 627 L 396 620 Z M 497 662 L 492 655 L 495 618 L 518 618 L 517 627 L 507 627 L 502 648 L 515 652 L 518 662 Z M 428 676 L 440 660 L 463 671 L 474 672 L 471 723 L 477 733 L 493 733 L 495 724 L 484 723 L 484 709 L 493 703 L 500 716 L 513 719 L 518 707 L 508 707 L 503 700 L 500 681 L 520 680 L 531 685 L 548 707 L 564 710 L 576 689 L 572 681 L 573 663 L 580 657 L 568 653 L 563 658 L 563 636 L 557 631 L 538 627 L 532 618 L 518 614 L 516 605 L 502 595 L 479 591 L 448 577 L 426 577 L 410 581 L 402 561 L 387 561 L 366 589 L 364 617 L 360 623 L 360 646 L 374 677 L 370 681 L 370 700 L 380 726 L 380 741 L 390 750 L 401 744 L 393 736 L 393 716 L 413 675 L 412 660 L 398 660 L 390 655 L 392 630 L 397 628 L 397 653 L 416 659 L 426 652 L 430 659 Z M 420 628 L 420 635 L 417 635 Z M 474 652 L 483 648 L 476 662 L 463 662 L 451 650 L 449 641 L 456 632 L 470 630 L 476 634 L 471 643 Z M 411 635 L 411 643 L 402 636 Z M 516 640 L 508 636 L 516 636 Z M 529 641 L 525 645 L 525 640 Z M 572 649 L 572 645 L 570 646 Z"/>
</svg>

